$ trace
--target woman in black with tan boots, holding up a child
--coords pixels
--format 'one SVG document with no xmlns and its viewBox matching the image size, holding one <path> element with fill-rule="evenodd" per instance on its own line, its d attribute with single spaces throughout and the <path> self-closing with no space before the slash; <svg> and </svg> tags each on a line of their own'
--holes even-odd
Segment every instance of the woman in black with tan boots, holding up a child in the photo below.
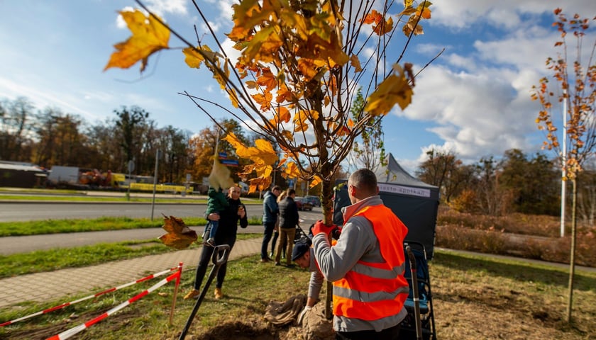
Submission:
<svg viewBox="0 0 596 340">
<path fill-rule="evenodd" d="M 238 222 L 240 222 L 240 227 L 245 228 L 248 227 L 248 217 L 246 217 L 246 208 L 240 201 L 240 187 L 239 186 L 232 186 L 228 191 L 228 206 L 224 208 L 219 214 L 211 213 L 207 216 L 208 220 L 218 220 L 219 227 L 217 228 L 217 232 L 215 234 L 215 244 L 228 244 L 230 246 L 230 250 L 232 251 L 234 243 L 236 243 L 236 233 L 238 232 Z M 211 261 L 211 256 L 213 255 L 214 248 L 211 246 L 202 246 L 201 247 L 201 257 L 199 259 L 199 264 L 197 266 L 197 273 L 194 278 L 194 288 L 184 296 L 184 300 L 191 299 L 194 297 L 198 297 L 201 295 L 201 284 L 203 283 L 203 278 L 205 277 L 205 273 L 207 271 L 207 266 L 209 266 L 209 261 Z M 216 300 L 221 299 L 223 297 L 223 293 L 221 292 L 221 287 L 223 286 L 223 280 L 226 278 L 226 268 L 228 263 L 223 263 L 221 267 L 219 267 L 219 271 L 217 272 L 217 279 L 215 284 L 215 298 Z"/>
</svg>

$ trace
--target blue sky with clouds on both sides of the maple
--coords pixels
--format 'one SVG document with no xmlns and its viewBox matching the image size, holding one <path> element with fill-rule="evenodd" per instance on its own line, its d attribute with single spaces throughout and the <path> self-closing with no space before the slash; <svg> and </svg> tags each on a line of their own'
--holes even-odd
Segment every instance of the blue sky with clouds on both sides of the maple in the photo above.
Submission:
<svg viewBox="0 0 596 340">
<path fill-rule="evenodd" d="M 231 0 L 197 0 L 219 33 L 229 30 Z M 532 85 L 546 75 L 546 57 L 556 57 L 552 11 L 596 16 L 593 0 L 436 0 L 425 34 L 414 38 L 405 62 L 416 69 L 438 51 L 443 55 L 416 79 L 412 105 L 396 106 L 383 120 L 388 152 L 409 171 L 431 147 L 451 150 L 467 162 L 502 156 L 519 148 L 539 152 L 543 136 L 534 120 L 539 104 Z M 150 0 L 188 40 L 193 25 L 204 31 L 192 1 Z M 0 0 L 0 97 L 28 97 L 38 109 L 51 106 L 89 123 L 113 118 L 121 106 L 140 106 L 165 127 L 199 132 L 209 118 L 187 98 L 189 91 L 228 103 L 205 70 L 189 69 L 182 53 L 152 57 L 142 76 L 103 69 L 114 43 L 130 35 L 116 11 L 131 0 Z M 594 40 L 595 30 L 592 28 Z M 170 45 L 182 46 L 171 38 Z M 396 55 L 397 57 L 397 55 Z M 214 111 L 216 117 L 224 113 Z M 228 117 L 228 116 L 226 116 Z M 552 154 L 548 155 L 552 157 Z"/>
</svg>

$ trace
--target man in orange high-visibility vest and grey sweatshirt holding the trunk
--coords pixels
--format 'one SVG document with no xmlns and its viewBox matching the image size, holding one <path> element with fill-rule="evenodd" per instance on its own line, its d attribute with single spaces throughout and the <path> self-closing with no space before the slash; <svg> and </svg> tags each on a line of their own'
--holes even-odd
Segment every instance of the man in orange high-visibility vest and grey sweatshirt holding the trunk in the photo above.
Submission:
<svg viewBox="0 0 596 340">
<path fill-rule="evenodd" d="M 348 179 L 352 205 L 342 209 L 336 245 L 329 242 L 336 226 L 319 220 L 312 228 L 316 263 L 333 283 L 336 339 L 397 339 L 407 316 L 403 244 L 408 229 L 378 195 L 375 173 L 359 169 Z"/>
</svg>

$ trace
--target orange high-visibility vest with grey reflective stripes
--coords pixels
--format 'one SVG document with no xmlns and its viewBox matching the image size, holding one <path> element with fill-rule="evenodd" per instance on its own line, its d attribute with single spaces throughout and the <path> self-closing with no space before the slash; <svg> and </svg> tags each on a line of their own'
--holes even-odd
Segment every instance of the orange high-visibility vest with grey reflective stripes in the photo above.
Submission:
<svg viewBox="0 0 596 340">
<path fill-rule="evenodd" d="M 385 261 L 360 260 L 333 282 L 333 314 L 372 321 L 399 313 L 408 296 L 403 244 L 408 229 L 385 205 L 366 206 L 358 215 L 373 225 Z"/>
</svg>

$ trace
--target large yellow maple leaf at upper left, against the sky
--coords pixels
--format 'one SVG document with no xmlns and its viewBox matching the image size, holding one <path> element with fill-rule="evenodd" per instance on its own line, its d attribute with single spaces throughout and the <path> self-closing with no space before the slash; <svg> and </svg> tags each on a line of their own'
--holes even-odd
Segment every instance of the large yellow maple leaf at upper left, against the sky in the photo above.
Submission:
<svg viewBox="0 0 596 340">
<path fill-rule="evenodd" d="M 155 17 L 145 16 L 138 10 L 121 11 L 120 14 L 133 35 L 114 45 L 116 52 L 112 53 L 104 71 L 111 67 L 128 69 L 140 61 L 140 72 L 143 72 L 150 55 L 169 48 L 170 30 Z"/>
</svg>

